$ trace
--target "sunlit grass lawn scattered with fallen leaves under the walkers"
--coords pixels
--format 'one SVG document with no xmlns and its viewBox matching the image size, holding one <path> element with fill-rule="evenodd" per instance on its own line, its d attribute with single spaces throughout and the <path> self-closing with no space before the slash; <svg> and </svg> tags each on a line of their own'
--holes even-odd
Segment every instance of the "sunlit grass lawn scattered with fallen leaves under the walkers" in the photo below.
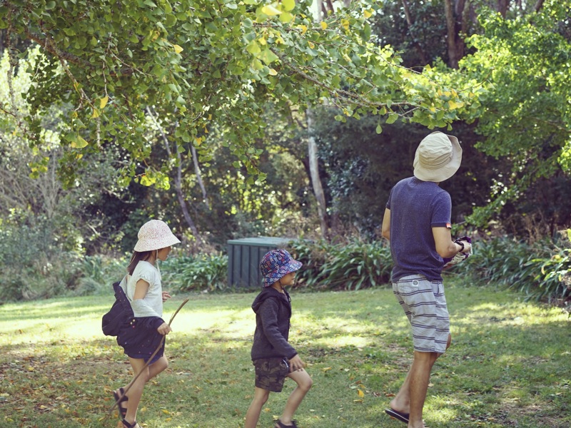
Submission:
<svg viewBox="0 0 571 428">
<path fill-rule="evenodd" d="M 425 424 L 570 427 L 567 314 L 455 281 L 445 282 L 453 346 L 433 370 Z M 166 303 L 166 320 L 184 297 Z M 143 394 L 142 427 L 243 427 L 254 297 L 191 297 L 168 335 L 170 367 Z M 112 391 L 131 372 L 114 338 L 101 334 L 112 300 L 110 292 L 0 306 L 0 427 L 116 427 Z M 292 300 L 290 341 L 313 377 L 296 414 L 300 428 L 404 428 L 383 412 L 413 352 L 392 291 L 293 292 Z M 286 380 L 270 395 L 259 427 L 273 427 L 291 389 Z"/>
</svg>

